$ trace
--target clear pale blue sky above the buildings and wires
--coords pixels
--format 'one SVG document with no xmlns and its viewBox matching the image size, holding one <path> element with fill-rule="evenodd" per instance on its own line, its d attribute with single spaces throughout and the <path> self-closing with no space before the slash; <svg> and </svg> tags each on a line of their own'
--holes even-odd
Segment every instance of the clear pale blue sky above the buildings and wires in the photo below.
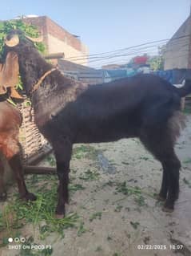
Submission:
<svg viewBox="0 0 191 256">
<path fill-rule="evenodd" d="M 94 55 L 170 39 L 188 18 L 190 5 L 191 0 L 4 0 L 0 19 L 46 15 L 71 34 L 79 35 L 89 47 L 90 55 Z M 145 51 L 156 54 L 154 47 L 141 51 L 138 51 L 140 55 Z M 127 52 L 119 51 L 121 55 Z M 124 55 L 113 58 L 111 53 L 111 58 L 93 59 L 90 66 L 125 63 L 133 57 Z"/>
</svg>

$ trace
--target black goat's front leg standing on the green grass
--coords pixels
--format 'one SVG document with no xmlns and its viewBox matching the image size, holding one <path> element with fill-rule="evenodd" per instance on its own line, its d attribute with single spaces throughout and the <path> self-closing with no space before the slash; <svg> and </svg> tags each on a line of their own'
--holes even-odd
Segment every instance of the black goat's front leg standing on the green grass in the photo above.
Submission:
<svg viewBox="0 0 191 256">
<path fill-rule="evenodd" d="M 54 142 L 53 148 L 57 162 L 57 173 L 59 179 L 56 216 L 60 218 L 64 217 L 65 204 L 69 202 L 68 185 L 72 144 L 69 140 Z"/>
</svg>

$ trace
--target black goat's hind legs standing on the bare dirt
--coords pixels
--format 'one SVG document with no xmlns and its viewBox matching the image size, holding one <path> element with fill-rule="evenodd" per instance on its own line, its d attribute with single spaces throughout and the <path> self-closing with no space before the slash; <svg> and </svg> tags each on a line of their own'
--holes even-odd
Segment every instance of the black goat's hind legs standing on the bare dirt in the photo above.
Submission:
<svg viewBox="0 0 191 256">
<path fill-rule="evenodd" d="M 179 193 L 181 163 L 174 152 L 174 141 L 168 127 L 145 129 L 140 137 L 145 147 L 161 162 L 163 177 L 159 198 L 165 200 L 164 210 L 173 211 Z"/>
</svg>

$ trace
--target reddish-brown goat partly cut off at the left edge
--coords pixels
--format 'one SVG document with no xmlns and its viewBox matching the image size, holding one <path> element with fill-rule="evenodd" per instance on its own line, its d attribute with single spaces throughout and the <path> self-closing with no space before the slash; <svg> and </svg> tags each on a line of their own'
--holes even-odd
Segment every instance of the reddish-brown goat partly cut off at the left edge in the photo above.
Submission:
<svg viewBox="0 0 191 256">
<path fill-rule="evenodd" d="M 26 189 L 22 173 L 20 159 L 20 144 L 18 142 L 19 127 L 22 124 L 22 116 L 17 108 L 6 101 L 0 102 L 0 153 L 9 161 L 14 177 L 18 183 L 20 197 L 25 200 L 35 200 L 33 193 Z M 0 201 L 6 199 L 6 189 L 3 182 L 4 167 L 0 161 Z"/>
</svg>

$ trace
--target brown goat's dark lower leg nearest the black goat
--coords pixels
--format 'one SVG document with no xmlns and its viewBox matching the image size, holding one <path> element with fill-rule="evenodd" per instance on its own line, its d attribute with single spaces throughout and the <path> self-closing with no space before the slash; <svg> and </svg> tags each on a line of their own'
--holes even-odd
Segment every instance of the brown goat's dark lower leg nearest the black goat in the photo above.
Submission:
<svg viewBox="0 0 191 256">
<path fill-rule="evenodd" d="M 22 169 L 22 161 L 20 159 L 19 153 L 10 158 L 9 164 L 14 172 L 14 177 L 18 183 L 18 191 L 20 197 L 22 199 L 25 199 L 26 201 L 35 201 L 37 197 L 34 196 L 33 193 L 29 193 L 26 189 L 26 183 L 24 181 L 24 174 Z"/>
</svg>

